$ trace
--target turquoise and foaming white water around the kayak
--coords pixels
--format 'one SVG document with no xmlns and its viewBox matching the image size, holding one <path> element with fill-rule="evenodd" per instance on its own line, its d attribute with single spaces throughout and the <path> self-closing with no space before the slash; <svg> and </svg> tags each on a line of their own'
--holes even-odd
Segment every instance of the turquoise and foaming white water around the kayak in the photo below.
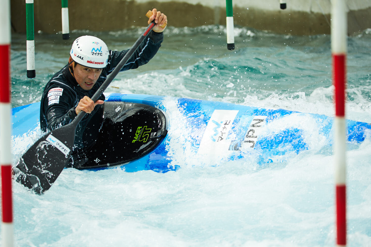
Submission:
<svg viewBox="0 0 371 247">
<path fill-rule="evenodd" d="M 12 106 L 41 99 L 73 40 L 96 35 L 128 49 L 143 29 L 36 34 L 36 78 L 26 77 L 26 37 L 12 35 Z M 223 26 L 165 31 L 158 54 L 118 74 L 107 92 L 224 101 L 334 116 L 330 36 L 290 36 Z M 348 38 L 347 118 L 371 123 L 371 30 Z M 14 160 L 41 133 L 13 139 Z M 348 246 L 371 246 L 371 143 L 347 153 Z M 187 152 L 187 150 L 185 150 Z M 191 153 L 188 154 L 188 156 Z M 187 157 L 187 153 L 184 154 Z M 65 169 L 43 196 L 14 184 L 16 246 L 334 246 L 334 158 L 302 153 L 261 168 L 253 160 L 164 174 Z"/>
</svg>

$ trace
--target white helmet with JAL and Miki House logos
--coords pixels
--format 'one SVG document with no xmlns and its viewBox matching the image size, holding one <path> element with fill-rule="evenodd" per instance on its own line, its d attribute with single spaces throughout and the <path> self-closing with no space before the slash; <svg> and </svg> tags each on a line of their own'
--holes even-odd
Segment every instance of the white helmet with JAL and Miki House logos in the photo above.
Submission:
<svg viewBox="0 0 371 247">
<path fill-rule="evenodd" d="M 78 64 L 102 69 L 107 66 L 108 47 L 103 40 L 94 36 L 81 36 L 73 41 L 70 55 Z"/>
</svg>

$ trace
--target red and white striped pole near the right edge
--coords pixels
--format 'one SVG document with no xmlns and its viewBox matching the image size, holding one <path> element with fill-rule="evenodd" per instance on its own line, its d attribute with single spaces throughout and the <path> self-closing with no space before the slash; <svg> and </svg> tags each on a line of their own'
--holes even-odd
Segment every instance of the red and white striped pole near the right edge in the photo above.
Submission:
<svg viewBox="0 0 371 247">
<path fill-rule="evenodd" d="M 335 182 L 336 182 L 336 244 L 347 245 L 346 167 L 347 136 L 345 126 L 345 87 L 347 60 L 347 11 L 345 0 L 332 0 L 331 12 L 332 80 L 335 86 Z"/>
</svg>

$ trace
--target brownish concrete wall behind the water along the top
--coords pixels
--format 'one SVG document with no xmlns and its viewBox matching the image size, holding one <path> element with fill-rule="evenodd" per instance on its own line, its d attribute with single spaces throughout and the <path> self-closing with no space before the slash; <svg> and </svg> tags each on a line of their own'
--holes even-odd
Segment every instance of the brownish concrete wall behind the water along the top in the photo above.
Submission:
<svg viewBox="0 0 371 247">
<path fill-rule="evenodd" d="M 312 35 L 330 33 L 330 0 L 233 0 L 234 24 L 276 33 Z M 122 30 L 147 26 L 145 13 L 154 7 L 168 16 L 175 27 L 195 27 L 226 23 L 225 0 L 75 0 L 69 1 L 70 30 Z M 371 28 L 371 0 L 347 0 L 348 33 Z M 36 0 L 35 32 L 59 33 L 62 30 L 61 1 Z M 11 0 L 13 31 L 26 32 L 24 0 Z"/>
</svg>

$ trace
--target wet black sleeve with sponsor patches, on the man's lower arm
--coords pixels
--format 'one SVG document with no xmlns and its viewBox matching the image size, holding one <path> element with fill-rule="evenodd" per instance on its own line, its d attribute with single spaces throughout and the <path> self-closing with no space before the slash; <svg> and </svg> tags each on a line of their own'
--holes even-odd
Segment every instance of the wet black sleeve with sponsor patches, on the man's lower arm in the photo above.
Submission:
<svg viewBox="0 0 371 247">
<path fill-rule="evenodd" d="M 50 95 L 44 98 L 44 112 L 48 131 L 69 124 L 77 116 L 75 94 L 71 94 L 67 88 L 56 86 L 48 89 L 48 94 L 52 94 L 55 92 L 52 90 L 56 89 L 63 89 L 62 95 Z M 53 99 L 57 97 L 58 99 Z"/>
</svg>

